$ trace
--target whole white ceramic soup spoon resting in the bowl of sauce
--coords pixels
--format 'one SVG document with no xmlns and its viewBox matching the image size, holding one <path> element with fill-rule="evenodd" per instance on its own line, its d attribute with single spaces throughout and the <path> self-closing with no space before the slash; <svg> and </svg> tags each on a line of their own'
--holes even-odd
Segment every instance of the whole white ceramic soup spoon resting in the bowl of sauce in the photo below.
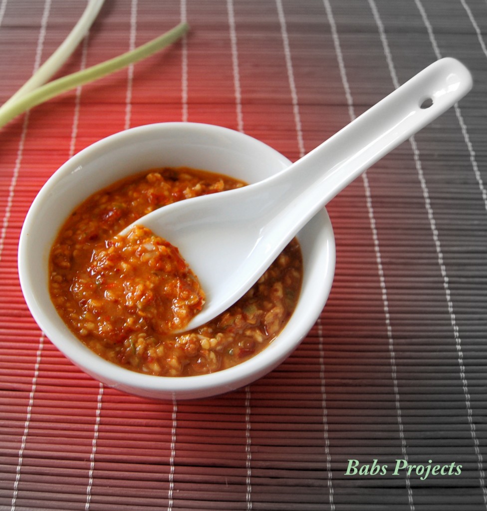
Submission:
<svg viewBox="0 0 487 511">
<path fill-rule="evenodd" d="M 240 189 L 170 204 L 134 222 L 178 247 L 198 276 L 206 303 L 185 330 L 233 305 L 320 208 L 471 87 L 463 64 L 438 60 L 287 169 Z"/>
</svg>

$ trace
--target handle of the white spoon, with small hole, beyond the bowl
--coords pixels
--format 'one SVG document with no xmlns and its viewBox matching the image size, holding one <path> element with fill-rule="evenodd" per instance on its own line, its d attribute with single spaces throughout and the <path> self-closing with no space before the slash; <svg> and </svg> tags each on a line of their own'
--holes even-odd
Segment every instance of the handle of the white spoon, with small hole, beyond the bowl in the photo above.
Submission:
<svg viewBox="0 0 487 511">
<path fill-rule="evenodd" d="M 297 232 L 347 184 L 471 87 L 471 74 L 462 63 L 440 59 L 275 176 L 275 190 L 294 210 L 292 218 L 299 219 L 292 230 Z"/>
</svg>

